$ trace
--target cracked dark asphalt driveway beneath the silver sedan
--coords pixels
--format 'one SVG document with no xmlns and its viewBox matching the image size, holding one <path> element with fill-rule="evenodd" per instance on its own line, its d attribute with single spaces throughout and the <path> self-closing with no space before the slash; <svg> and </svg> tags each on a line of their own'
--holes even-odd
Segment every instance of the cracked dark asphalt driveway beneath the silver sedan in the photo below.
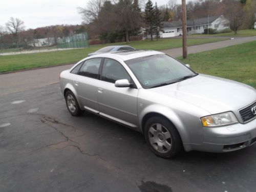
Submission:
<svg viewBox="0 0 256 192">
<path fill-rule="evenodd" d="M 73 117 L 58 83 L 0 97 L 0 191 L 255 191 L 256 145 L 156 157 L 143 136 Z"/>
</svg>

